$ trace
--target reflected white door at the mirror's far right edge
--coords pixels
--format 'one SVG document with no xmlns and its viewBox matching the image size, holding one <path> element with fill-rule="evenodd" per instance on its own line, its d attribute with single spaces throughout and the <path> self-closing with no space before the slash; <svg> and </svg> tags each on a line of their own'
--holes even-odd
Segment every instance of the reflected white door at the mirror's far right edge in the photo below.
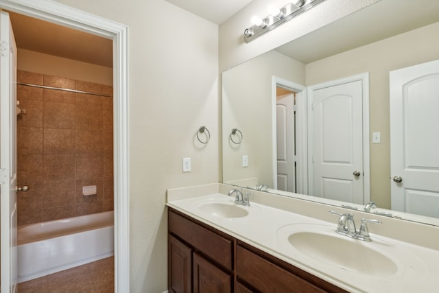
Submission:
<svg viewBox="0 0 439 293">
<path fill-rule="evenodd" d="M 438 110 L 439 60 L 390 72 L 394 210 L 439 218 Z"/>
</svg>

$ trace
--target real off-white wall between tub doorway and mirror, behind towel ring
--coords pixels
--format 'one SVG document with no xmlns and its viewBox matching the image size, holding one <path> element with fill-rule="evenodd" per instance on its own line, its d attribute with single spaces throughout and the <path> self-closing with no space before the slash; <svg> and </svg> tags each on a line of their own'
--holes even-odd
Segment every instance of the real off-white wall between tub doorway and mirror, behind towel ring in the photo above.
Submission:
<svg viewBox="0 0 439 293">
<path fill-rule="evenodd" d="M 218 27 L 163 0 L 57 1 L 129 27 L 130 293 L 163 292 L 166 189 L 219 178 Z"/>
</svg>

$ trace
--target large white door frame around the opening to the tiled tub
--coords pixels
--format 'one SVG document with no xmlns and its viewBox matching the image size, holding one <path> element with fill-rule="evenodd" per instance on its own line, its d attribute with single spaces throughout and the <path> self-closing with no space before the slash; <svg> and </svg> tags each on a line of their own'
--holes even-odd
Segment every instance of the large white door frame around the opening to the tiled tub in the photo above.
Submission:
<svg viewBox="0 0 439 293">
<path fill-rule="evenodd" d="M 128 27 L 48 0 L 0 0 L 0 8 L 113 40 L 115 292 L 130 292 Z"/>
</svg>

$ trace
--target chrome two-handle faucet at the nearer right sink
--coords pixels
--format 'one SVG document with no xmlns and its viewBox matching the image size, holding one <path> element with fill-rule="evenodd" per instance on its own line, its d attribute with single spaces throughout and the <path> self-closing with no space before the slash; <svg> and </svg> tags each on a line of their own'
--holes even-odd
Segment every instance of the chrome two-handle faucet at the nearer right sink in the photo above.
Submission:
<svg viewBox="0 0 439 293">
<path fill-rule="evenodd" d="M 365 218 L 362 218 L 361 226 L 359 227 L 359 231 L 357 231 L 357 228 L 355 228 L 354 215 L 352 213 L 338 213 L 337 211 L 329 211 L 329 213 L 339 215 L 335 232 L 361 241 L 372 241 L 372 239 L 370 239 L 367 223 L 381 224 L 380 220 L 366 220 Z"/>
</svg>

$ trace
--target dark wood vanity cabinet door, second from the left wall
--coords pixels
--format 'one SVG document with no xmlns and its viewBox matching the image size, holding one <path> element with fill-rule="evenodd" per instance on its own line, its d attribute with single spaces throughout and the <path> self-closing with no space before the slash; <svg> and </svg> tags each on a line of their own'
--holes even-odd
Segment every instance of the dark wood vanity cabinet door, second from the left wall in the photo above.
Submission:
<svg viewBox="0 0 439 293">
<path fill-rule="evenodd" d="M 232 292 L 232 277 L 212 263 L 193 253 L 193 292 L 228 293 Z"/>
</svg>

